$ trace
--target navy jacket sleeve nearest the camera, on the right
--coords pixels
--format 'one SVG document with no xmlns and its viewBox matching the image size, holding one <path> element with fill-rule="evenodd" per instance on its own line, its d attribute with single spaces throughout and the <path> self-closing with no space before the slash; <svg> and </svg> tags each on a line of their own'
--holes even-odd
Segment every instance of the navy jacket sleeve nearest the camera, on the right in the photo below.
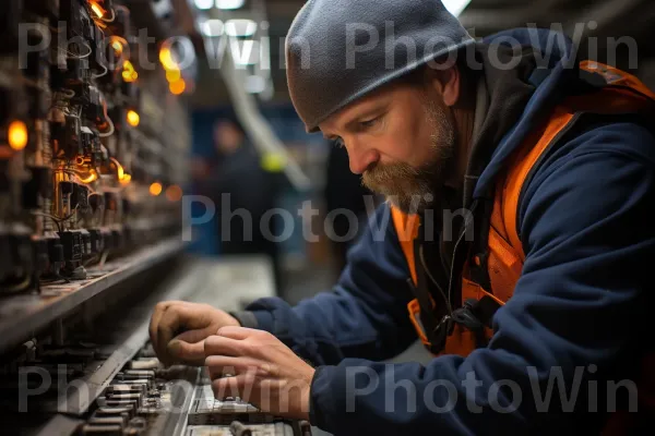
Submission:
<svg viewBox="0 0 655 436">
<path fill-rule="evenodd" d="M 487 348 L 426 366 L 354 359 L 321 366 L 312 424 L 340 436 L 570 434 L 584 420 L 598 426 L 598 415 L 563 412 L 611 409 L 602 382 L 634 375 L 623 365 L 634 366 L 644 347 L 635 339 L 646 327 L 655 258 L 655 165 L 626 143 L 655 149 L 643 129 L 587 132 L 567 146 L 583 145 L 579 152 L 552 159 L 531 183 L 520 223 L 523 274 L 495 315 Z M 634 393 L 630 386 L 617 395 Z"/>
</svg>

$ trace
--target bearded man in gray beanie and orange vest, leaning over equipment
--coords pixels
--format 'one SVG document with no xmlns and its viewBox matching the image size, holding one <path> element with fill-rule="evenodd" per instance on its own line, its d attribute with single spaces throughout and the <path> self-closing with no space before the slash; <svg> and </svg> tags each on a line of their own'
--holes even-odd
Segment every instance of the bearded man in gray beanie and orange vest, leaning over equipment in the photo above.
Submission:
<svg viewBox="0 0 655 436">
<path fill-rule="evenodd" d="M 162 303 L 158 355 L 335 435 L 651 431 L 655 96 L 560 36 L 474 43 L 434 0 L 308 2 L 294 105 L 390 204 L 331 293 Z M 373 362 L 417 337 L 429 364 Z"/>
</svg>

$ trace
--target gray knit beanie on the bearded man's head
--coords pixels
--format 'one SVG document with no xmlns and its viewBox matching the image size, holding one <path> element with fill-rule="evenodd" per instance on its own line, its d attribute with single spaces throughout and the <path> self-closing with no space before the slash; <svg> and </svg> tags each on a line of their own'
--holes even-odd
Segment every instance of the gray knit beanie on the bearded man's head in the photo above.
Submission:
<svg viewBox="0 0 655 436">
<path fill-rule="evenodd" d="M 349 102 L 474 41 L 439 0 L 309 0 L 286 38 L 291 101 L 315 132 Z"/>
</svg>

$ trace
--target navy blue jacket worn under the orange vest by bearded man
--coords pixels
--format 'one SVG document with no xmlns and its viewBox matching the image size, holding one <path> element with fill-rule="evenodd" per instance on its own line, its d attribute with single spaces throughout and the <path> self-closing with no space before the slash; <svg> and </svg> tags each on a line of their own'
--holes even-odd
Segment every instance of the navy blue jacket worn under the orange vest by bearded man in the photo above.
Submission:
<svg viewBox="0 0 655 436">
<path fill-rule="evenodd" d="M 557 37 L 503 35 L 541 47 Z M 544 49 L 555 59 L 548 74 L 476 193 L 495 182 L 562 88 L 572 48 L 552 50 Z M 633 378 L 653 348 L 655 137 L 630 117 L 583 116 L 577 125 L 548 152 L 521 199 L 526 259 L 513 298 L 493 317 L 488 347 L 427 365 L 379 363 L 417 339 L 406 308 L 408 266 L 388 206 L 331 292 L 295 307 L 279 299 L 248 307 L 259 328 L 317 365 L 312 424 L 340 436 L 597 433 L 615 397 L 607 380 Z M 630 392 L 628 382 L 619 386 L 617 392 Z"/>
</svg>

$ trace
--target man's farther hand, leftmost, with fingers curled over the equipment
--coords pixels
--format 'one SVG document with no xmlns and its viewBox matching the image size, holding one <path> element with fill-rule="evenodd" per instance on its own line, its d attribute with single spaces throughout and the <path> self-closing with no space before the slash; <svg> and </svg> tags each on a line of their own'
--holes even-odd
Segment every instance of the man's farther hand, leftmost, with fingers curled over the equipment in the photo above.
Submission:
<svg viewBox="0 0 655 436">
<path fill-rule="evenodd" d="M 231 315 L 209 304 L 165 301 L 155 306 L 150 336 L 157 358 L 165 365 L 204 364 L 206 337 L 224 326 L 239 326 Z"/>
</svg>

